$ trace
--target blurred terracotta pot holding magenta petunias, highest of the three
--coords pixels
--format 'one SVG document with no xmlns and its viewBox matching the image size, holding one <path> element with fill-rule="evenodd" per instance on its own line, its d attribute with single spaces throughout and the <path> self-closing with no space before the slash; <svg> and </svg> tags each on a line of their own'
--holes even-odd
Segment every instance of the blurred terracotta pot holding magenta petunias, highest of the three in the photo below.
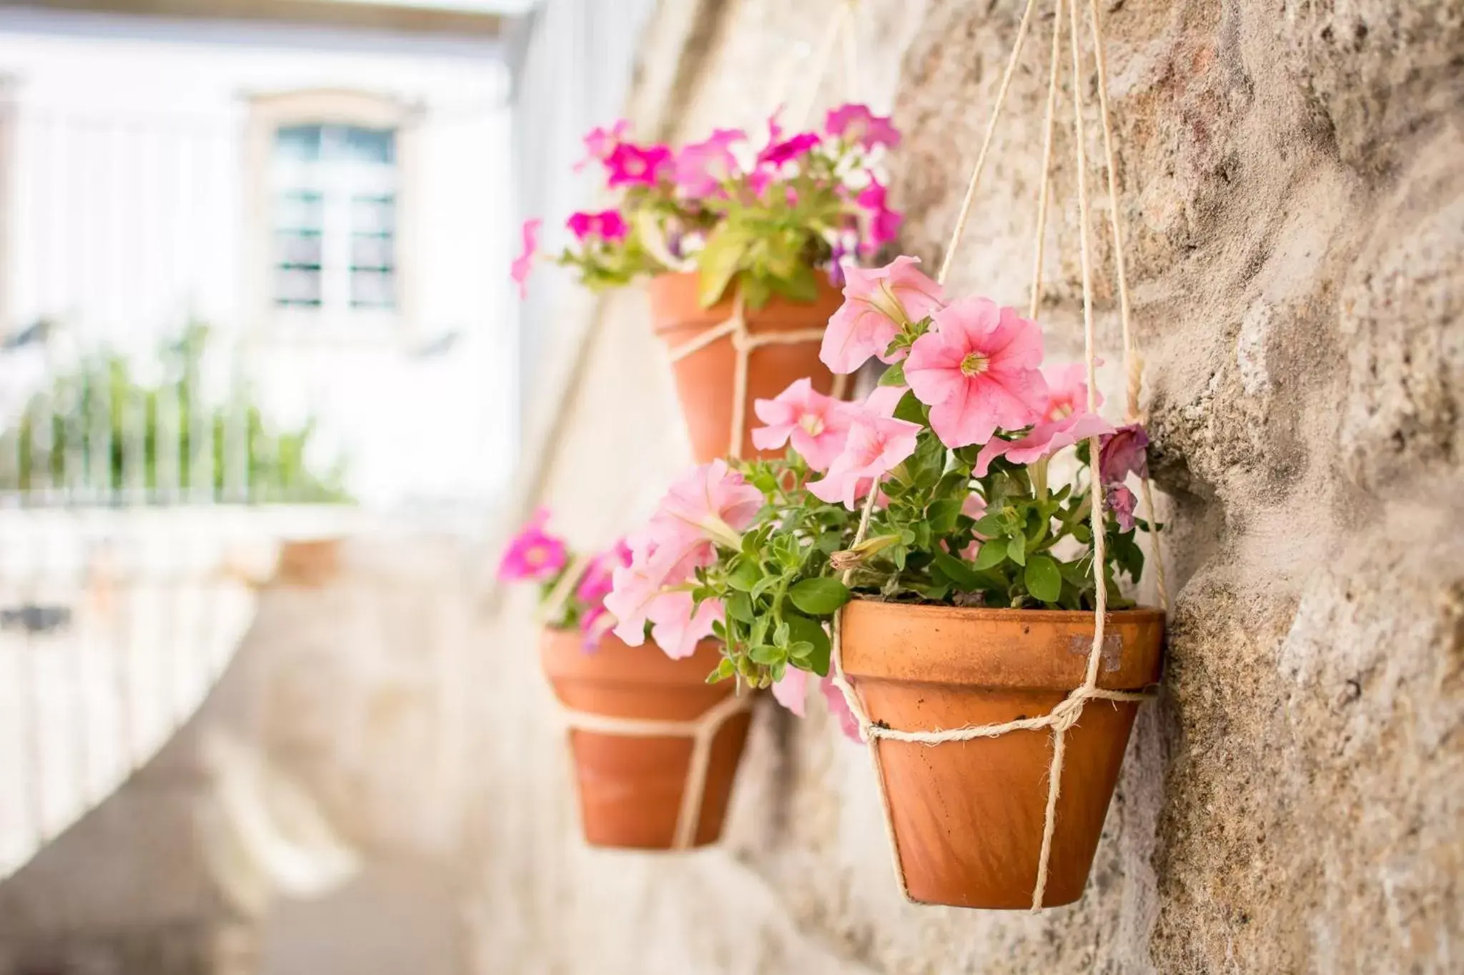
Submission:
<svg viewBox="0 0 1464 975">
<path fill-rule="evenodd" d="M 660 275 L 647 285 L 656 335 L 676 349 L 709 329 L 732 317 L 732 297 L 725 297 L 710 308 L 697 303 L 694 272 Z M 747 311 L 748 332 L 754 336 L 770 332 L 802 332 L 823 329 L 843 297 L 818 275 L 818 298 L 813 304 L 798 304 L 773 298 L 755 311 Z M 676 395 L 691 436 L 691 450 L 697 463 L 725 458 L 732 449 L 732 396 L 735 389 L 736 349 L 731 336 L 723 336 L 673 364 Z M 752 446 L 752 427 L 760 425 L 752 414 L 752 402 L 772 399 L 789 383 L 808 377 L 820 393 L 833 390 L 834 377 L 818 361 L 818 341 L 761 345 L 748 351 L 747 402 L 742 412 L 742 456 L 782 456 L 782 450 L 758 452 Z"/>
</svg>

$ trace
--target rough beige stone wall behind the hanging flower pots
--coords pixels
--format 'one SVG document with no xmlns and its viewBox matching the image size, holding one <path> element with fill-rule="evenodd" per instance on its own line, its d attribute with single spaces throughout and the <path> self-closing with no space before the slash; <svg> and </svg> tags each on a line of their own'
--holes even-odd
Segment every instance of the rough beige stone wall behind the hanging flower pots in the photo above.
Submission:
<svg viewBox="0 0 1464 975">
<path fill-rule="evenodd" d="M 815 42 L 836 9 L 663 6 L 704 28 L 653 31 L 644 53 L 650 76 L 691 66 L 675 96 L 637 102 L 644 132 L 676 137 L 763 117 L 789 47 Z M 859 4 L 855 94 L 906 133 L 902 247 L 927 262 L 1019 7 Z M 583 849 L 531 598 L 514 593 L 492 614 L 482 675 L 498 719 L 482 762 L 501 785 L 474 811 L 480 971 L 1464 965 L 1464 12 L 1107 0 L 1105 20 L 1176 599 L 1165 688 L 1140 716 L 1088 895 L 1039 917 L 903 905 L 865 754 L 817 715 L 760 716 L 722 849 Z M 1025 300 L 1050 29 L 1037 20 L 1015 77 L 956 292 Z M 685 37 L 698 47 L 678 47 Z M 817 101 L 839 88 L 826 80 Z M 1042 308 L 1054 357 L 1080 349 L 1070 153 L 1063 127 L 1053 187 L 1067 205 L 1050 224 Z M 1116 403 L 1110 282 L 1098 276 L 1098 311 Z M 640 295 L 606 301 L 584 342 L 534 500 L 593 544 L 644 516 L 685 447 Z"/>
</svg>

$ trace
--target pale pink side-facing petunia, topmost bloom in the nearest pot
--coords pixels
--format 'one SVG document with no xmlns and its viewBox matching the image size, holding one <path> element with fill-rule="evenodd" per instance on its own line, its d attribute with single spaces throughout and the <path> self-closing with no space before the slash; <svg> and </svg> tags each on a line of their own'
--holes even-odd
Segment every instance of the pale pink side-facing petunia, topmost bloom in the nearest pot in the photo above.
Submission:
<svg viewBox="0 0 1464 975">
<path fill-rule="evenodd" d="M 829 319 L 818 358 L 834 373 L 852 373 L 884 351 L 909 322 L 944 303 L 940 285 L 916 270 L 918 257 L 896 257 L 884 268 L 845 268 L 843 304 Z"/>
</svg>

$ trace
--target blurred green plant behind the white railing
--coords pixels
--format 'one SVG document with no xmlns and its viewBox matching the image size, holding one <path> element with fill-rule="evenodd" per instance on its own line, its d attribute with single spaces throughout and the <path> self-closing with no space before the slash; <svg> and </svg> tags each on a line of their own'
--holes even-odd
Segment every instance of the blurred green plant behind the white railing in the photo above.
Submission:
<svg viewBox="0 0 1464 975">
<path fill-rule="evenodd" d="M 313 418 L 296 427 L 268 421 L 249 382 L 225 402 L 205 402 L 202 364 L 208 344 L 209 329 L 199 323 L 165 341 L 158 349 L 164 368 L 157 383 L 138 379 L 133 364 L 113 349 L 57 371 L 48 389 L 31 396 L 20 421 L 0 434 L 0 491 L 81 484 L 86 493 L 142 487 L 158 500 L 167 500 L 161 494 L 174 490 L 236 500 L 225 497 L 225 455 L 243 433 L 252 501 L 348 503 L 344 459 L 324 468 L 307 460 L 316 433 Z M 47 425 L 50 443 L 37 436 Z M 170 450 L 168 463 L 160 465 L 160 450 Z M 105 471 L 97 469 L 101 465 Z M 160 474 L 170 482 L 160 482 Z"/>
</svg>

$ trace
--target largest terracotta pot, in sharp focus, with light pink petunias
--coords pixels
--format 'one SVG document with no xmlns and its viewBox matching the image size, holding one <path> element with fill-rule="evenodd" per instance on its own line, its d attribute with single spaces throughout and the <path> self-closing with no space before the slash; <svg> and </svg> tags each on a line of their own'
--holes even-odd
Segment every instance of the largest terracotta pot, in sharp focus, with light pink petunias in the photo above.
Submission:
<svg viewBox="0 0 1464 975">
<path fill-rule="evenodd" d="M 855 601 L 845 671 L 870 721 L 900 731 L 1048 713 L 1083 683 L 1091 612 Z M 1159 678 L 1164 614 L 1108 614 L 1098 686 Z M 1083 893 L 1138 703 L 1089 700 L 1067 731 L 1044 906 Z M 914 900 L 1031 908 L 1047 811 L 1050 728 L 937 746 L 878 743 L 897 855 Z"/>
</svg>

